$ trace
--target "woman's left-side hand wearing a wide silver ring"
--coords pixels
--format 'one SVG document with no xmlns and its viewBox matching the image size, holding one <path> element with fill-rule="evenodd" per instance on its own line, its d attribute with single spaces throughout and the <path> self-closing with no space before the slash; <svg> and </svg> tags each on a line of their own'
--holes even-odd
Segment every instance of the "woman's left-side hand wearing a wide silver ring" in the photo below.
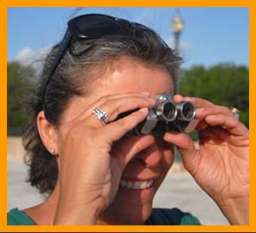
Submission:
<svg viewBox="0 0 256 233">
<path fill-rule="evenodd" d="M 154 105 L 149 95 L 115 94 L 102 97 L 75 119 L 59 128 L 60 197 L 54 224 L 95 224 L 115 197 L 122 172 L 132 157 L 154 143 L 151 135 L 122 139 L 115 153 L 113 142 L 142 122 Z M 103 126 L 92 114 L 105 110 L 110 123 Z M 129 110 L 137 110 L 115 121 Z M 122 153 L 120 153 L 120 151 Z"/>
</svg>

